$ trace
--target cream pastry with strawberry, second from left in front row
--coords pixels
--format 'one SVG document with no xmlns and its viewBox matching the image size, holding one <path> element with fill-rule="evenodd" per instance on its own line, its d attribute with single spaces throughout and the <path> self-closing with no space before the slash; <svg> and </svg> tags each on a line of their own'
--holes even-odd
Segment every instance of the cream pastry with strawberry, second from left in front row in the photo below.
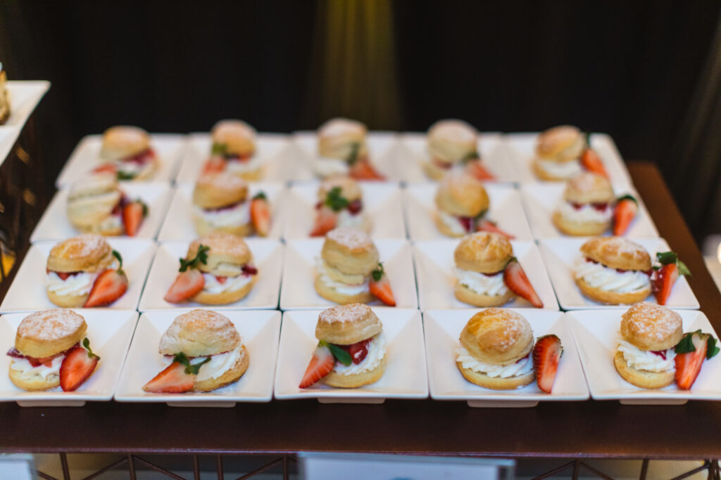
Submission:
<svg viewBox="0 0 721 480">
<path fill-rule="evenodd" d="M 216 390 L 238 381 L 249 364 L 235 325 L 211 310 L 178 316 L 160 338 L 158 350 L 168 366 L 143 386 L 151 393 Z"/>
</svg>

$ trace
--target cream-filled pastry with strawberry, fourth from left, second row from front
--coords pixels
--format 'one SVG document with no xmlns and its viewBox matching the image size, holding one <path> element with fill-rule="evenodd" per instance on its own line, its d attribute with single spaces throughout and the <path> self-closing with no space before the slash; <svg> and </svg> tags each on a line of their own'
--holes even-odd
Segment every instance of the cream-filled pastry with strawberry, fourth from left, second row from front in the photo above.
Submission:
<svg viewBox="0 0 721 480">
<path fill-rule="evenodd" d="M 513 256 L 508 237 L 493 232 L 476 232 L 463 237 L 454 251 L 456 287 L 461 302 L 476 307 L 497 307 L 516 296 L 536 308 L 543 302 Z"/>
</svg>

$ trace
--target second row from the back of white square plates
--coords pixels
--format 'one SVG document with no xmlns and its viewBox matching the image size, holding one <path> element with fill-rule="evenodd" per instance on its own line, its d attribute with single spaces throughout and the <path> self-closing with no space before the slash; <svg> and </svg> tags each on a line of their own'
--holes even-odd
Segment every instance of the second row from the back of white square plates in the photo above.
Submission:
<svg viewBox="0 0 721 480">
<path fill-rule="evenodd" d="M 291 185 L 262 182 L 252 184 L 249 197 L 265 192 L 273 209 L 271 238 L 307 238 L 314 225 L 318 201 L 318 182 Z M 169 186 L 159 183 L 123 182 L 128 198 L 140 198 L 149 206 L 149 216 L 137 237 L 167 240 L 193 240 L 198 232 L 193 225 L 193 184 Z M 365 214 L 371 222 L 373 238 L 436 240 L 447 238 L 435 226 L 435 184 L 399 186 L 391 182 L 361 184 Z M 487 184 L 490 207 L 485 216 L 517 240 L 562 237 L 552 222 L 552 214 L 563 199 L 563 184 Z M 653 220 L 638 194 L 631 188 L 617 188 L 616 193 L 632 194 L 640 209 L 626 233 L 627 237 L 658 237 Z M 78 231 L 66 214 L 68 189 L 58 191 L 50 201 L 31 241 L 63 240 Z M 610 235 L 610 232 L 606 232 Z"/>
</svg>

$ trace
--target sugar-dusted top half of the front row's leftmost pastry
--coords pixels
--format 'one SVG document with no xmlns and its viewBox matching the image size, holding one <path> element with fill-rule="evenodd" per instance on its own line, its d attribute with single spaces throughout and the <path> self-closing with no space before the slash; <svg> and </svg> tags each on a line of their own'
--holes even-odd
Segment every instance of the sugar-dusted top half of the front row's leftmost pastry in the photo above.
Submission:
<svg viewBox="0 0 721 480">
<path fill-rule="evenodd" d="M 15 334 L 15 348 L 25 356 L 50 357 L 79 343 L 86 332 L 85 319 L 72 310 L 42 310 L 22 319 Z"/>
</svg>

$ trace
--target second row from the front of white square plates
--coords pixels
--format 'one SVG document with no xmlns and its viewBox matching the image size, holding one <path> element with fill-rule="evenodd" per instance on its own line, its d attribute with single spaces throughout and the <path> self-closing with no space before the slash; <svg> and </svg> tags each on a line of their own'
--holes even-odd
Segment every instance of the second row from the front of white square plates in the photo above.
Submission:
<svg viewBox="0 0 721 480">
<path fill-rule="evenodd" d="M 584 238 L 554 238 L 534 242 L 513 240 L 513 253 L 523 266 L 528 279 L 544 302 L 544 309 L 612 309 L 583 296 L 573 281 L 572 271 L 580 257 Z M 123 255 L 128 273 L 128 291 L 110 309 L 139 309 L 142 312 L 174 309 L 178 306 L 164 301 L 179 268 L 178 258 L 187 253 L 189 242 L 110 238 L 110 245 Z M 218 309 L 317 309 L 333 303 L 317 294 L 313 286 L 315 266 L 324 239 L 247 240 L 258 281 L 244 299 Z M 637 239 L 654 258 L 656 252 L 668 250 L 663 239 Z M 457 240 L 404 239 L 375 240 L 381 262 L 394 291 L 397 306 L 420 309 L 459 309 L 468 305 L 454 296 L 456 274 L 454 250 Z M 45 294 L 45 268 L 55 241 L 37 242 L 28 251 L 13 284 L 0 305 L 0 312 L 23 312 L 53 308 Z M 649 297 L 650 301 L 653 296 Z M 377 303 L 376 303 L 377 304 Z M 667 302 L 669 307 L 697 309 L 699 302 L 684 277 L 673 286 Z M 508 307 L 528 308 L 531 304 L 515 299 Z"/>
</svg>

